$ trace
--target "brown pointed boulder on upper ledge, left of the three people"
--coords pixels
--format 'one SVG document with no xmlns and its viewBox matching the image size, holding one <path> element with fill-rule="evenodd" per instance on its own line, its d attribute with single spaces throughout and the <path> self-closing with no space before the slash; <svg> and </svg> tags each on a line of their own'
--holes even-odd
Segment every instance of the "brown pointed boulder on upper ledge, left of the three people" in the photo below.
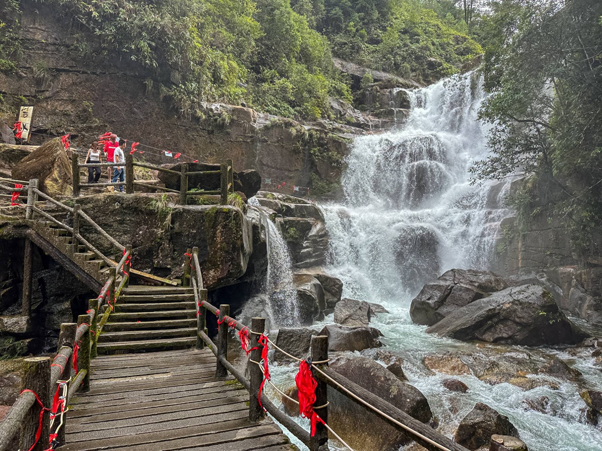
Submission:
<svg viewBox="0 0 602 451">
<path fill-rule="evenodd" d="M 71 161 L 60 138 L 42 144 L 13 167 L 13 179 L 38 179 L 40 191 L 51 197 L 73 194 Z"/>
</svg>

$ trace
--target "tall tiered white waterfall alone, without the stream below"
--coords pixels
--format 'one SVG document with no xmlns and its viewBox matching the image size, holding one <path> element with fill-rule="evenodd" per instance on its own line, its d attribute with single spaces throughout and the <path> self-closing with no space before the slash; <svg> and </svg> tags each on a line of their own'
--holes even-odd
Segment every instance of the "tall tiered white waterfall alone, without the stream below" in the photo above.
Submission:
<svg viewBox="0 0 602 451">
<path fill-rule="evenodd" d="M 486 155 L 479 78 L 407 92 L 405 126 L 356 138 L 342 178 L 346 203 L 326 211 L 347 295 L 387 304 L 411 299 L 447 269 L 487 268 L 507 214 L 497 199 L 505 188 L 468 182 L 471 162 Z"/>
</svg>

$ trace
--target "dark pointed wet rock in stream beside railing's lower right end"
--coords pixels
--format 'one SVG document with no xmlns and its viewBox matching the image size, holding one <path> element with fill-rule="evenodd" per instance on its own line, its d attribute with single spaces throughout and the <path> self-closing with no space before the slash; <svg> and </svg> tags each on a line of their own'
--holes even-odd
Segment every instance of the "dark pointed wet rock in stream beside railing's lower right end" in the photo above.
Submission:
<svg viewBox="0 0 602 451">
<path fill-rule="evenodd" d="M 497 413 L 488 405 L 477 402 L 473 410 L 460 422 L 454 440 L 470 450 L 477 450 L 488 445 L 494 434 L 519 438 L 517 428 L 506 416 Z"/>
</svg>

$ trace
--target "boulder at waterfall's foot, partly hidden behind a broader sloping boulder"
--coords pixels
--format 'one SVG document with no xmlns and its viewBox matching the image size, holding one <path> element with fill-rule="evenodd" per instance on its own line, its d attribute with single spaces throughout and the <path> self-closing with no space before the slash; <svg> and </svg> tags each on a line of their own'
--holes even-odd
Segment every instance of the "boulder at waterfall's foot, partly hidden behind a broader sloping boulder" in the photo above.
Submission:
<svg viewBox="0 0 602 451">
<path fill-rule="evenodd" d="M 412 300 L 410 316 L 415 324 L 432 326 L 456 308 L 507 287 L 507 282 L 491 271 L 450 269 L 423 287 Z"/>
</svg>

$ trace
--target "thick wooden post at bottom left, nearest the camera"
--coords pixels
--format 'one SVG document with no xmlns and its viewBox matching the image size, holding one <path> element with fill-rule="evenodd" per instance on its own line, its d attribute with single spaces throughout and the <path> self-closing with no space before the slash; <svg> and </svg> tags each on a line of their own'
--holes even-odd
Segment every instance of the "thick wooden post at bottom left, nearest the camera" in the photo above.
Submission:
<svg viewBox="0 0 602 451">
<path fill-rule="evenodd" d="M 31 390 L 40 397 L 42 405 L 46 408 L 52 407 L 50 387 L 50 357 L 29 357 L 23 360 L 23 390 Z M 53 393 L 54 394 L 54 393 Z M 34 402 L 29 412 L 23 419 L 20 435 L 20 449 L 29 449 L 36 441 L 36 432 L 40 423 L 40 405 Z M 43 451 L 48 448 L 50 417 L 48 414 L 42 416 L 42 428 L 40 439 L 32 451 Z"/>
</svg>

